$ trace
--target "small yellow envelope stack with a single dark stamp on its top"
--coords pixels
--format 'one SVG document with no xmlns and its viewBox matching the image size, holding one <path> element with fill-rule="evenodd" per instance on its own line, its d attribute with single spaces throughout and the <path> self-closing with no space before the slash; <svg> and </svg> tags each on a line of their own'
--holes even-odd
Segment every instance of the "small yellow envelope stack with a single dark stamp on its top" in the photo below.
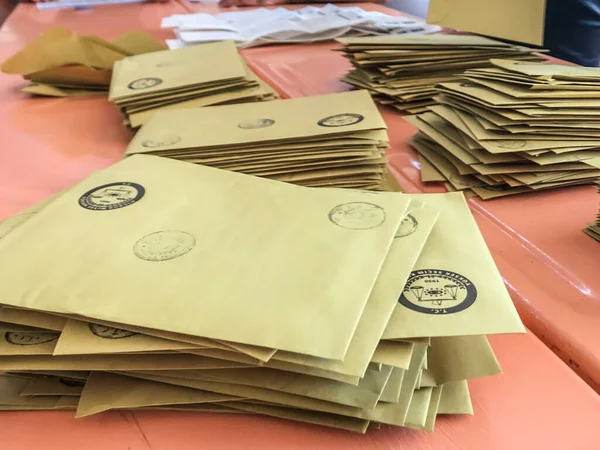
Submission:
<svg viewBox="0 0 600 450">
<path fill-rule="evenodd" d="M 231 41 L 164 50 L 115 64 L 109 100 L 139 128 L 154 113 L 178 108 L 272 100 Z"/>
</svg>

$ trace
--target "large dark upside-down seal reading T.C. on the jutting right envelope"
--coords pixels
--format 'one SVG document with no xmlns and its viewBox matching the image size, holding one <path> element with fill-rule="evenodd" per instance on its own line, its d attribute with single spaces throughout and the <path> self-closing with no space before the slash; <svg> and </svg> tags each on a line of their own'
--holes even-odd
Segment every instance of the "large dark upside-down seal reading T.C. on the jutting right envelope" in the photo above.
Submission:
<svg viewBox="0 0 600 450">
<path fill-rule="evenodd" d="M 468 278 L 448 270 L 415 270 L 398 301 L 425 314 L 464 311 L 477 299 L 477 289 Z"/>
</svg>

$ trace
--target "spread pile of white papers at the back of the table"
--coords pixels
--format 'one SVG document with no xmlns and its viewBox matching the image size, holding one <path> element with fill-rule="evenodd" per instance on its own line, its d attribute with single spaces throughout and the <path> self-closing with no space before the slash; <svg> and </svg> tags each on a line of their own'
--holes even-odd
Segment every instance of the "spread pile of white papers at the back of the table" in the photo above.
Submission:
<svg viewBox="0 0 600 450">
<path fill-rule="evenodd" d="M 162 28 L 174 28 L 177 39 L 169 48 L 232 40 L 238 47 L 328 41 L 341 36 L 369 34 L 434 33 L 440 26 L 357 6 L 306 6 L 300 9 L 258 8 L 221 14 L 175 14 L 165 17 Z"/>
</svg>

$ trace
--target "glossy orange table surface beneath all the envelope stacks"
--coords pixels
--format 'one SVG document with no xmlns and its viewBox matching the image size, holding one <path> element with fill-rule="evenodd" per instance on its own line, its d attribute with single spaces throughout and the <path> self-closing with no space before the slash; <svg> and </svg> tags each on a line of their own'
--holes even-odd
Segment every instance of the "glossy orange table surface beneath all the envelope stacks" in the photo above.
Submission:
<svg viewBox="0 0 600 450">
<path fill-rule="evenodd" d="M 376 5 L 365 6 L 382 9 Z M 0 29 L 0 60 L 40 32 L 65 26 L 112 38 L 142 29 L 157 38 L 160 19 L 214 4 L 107 6 L 92 11 L 37 11 L 19 5 Z M 332 44 L 276 46 L 243 52 L 282 95 L 344 90 L 346 62 Z M 120 159 L 130 139 L 105 98 L 41 99 L 20 92 L 24 82 L 0 74 L 0 219 L 69 187 Z M 419 181 L 398 114 L 389 126 L 390 162 L 407 192 L 440 191 Z M 592 277 L 598 244 L 581 233 L 597 208 L 591 188 L 573 188 L 492 202 L 470 202 L 496 263 L 527 325 L 552 350 L 579 366 L 588 383 L 600 374 L 600 281 Z M 495 336 L 504 375 L 470 383 L 475 415 L 443 417 L 434 433 L 383 427 L 357 436 L 253 416 L 114 412 L 74 420 L 70 412 L 2 413 L 9 448 L 81 449 L 597 449 L 600 397 L 532 333 Z"/>
</svg>

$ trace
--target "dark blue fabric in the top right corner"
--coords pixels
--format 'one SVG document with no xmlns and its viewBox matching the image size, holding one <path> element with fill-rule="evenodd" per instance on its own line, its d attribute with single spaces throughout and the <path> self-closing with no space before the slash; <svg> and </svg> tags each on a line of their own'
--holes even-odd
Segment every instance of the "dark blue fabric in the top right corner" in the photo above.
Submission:
<svg viewBox="0 0 600 450">
<path fill-rule="evenodd" d="M 552 56 L 600 66 L 600 0 L 547 0 L 544 47 Z"/>
</svg>

